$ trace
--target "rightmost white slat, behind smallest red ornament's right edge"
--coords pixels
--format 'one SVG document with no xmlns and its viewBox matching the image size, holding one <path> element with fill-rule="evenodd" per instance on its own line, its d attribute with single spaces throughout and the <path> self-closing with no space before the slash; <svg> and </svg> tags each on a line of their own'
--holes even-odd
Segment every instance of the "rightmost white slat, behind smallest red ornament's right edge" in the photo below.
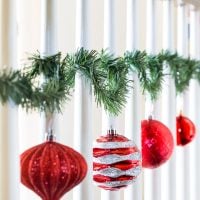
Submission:
<svg viewBox="0 0 200 200">
<path fill-rule="evenodd" d="M 198 59 L 197 54 L 197 27 L 200 25 L 198 22 L 198 11 L 194 6 L 190 7 L 190 57 L 193 59 Z M 188 117 L 194 122 L 194 124 L 198 124 L 198 119 L 196 118 L 197 115 L 197 80 L 191 80 L 190 82 L 190 88 L 189 88 L 189 115 Z M 197 133 L 198 134 L 198 133 Z M 196 140 L 197 138 L 195 138 Z M 195 141 L 192 141 L 189 148 L 189 155 L 190 155 L 190 162 L 189 162 L 189 199 L 196 199 L 196 185 L 195 185 L 195 179 L 196 179 L 196 173 L 199 170 L 197 168 L 196 158 L 198 156 L 198 153 L 196 153 L 195 149 Z"/>
</svg>

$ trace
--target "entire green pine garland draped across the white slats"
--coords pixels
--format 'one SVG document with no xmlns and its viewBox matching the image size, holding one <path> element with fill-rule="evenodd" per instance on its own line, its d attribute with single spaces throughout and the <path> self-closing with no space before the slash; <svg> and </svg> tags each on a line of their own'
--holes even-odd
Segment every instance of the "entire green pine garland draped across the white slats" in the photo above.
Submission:
<svg viewBox="0 0 200 200">
<path fill-rule="evenodd" d="M 153 101 L 158 98 L 166 75 L 173 77 L 177 93 L 183 93 L 191 79 L 200 82 L 200 61 L 170 51 L 148 55 L 136 50 L 116 57 L 106 50 L 81 48 L 63 58 L 61 53 L 48 57 L 37 53 L 28 60 L 21 70 L 0 71 L 1 103 L 13 101 L 27 111 L 61 112 L 74 89 L 76 73 L 80 73 L 92 85 L 97 104 L 117 115 L 131 89 L 130 71 L 138 75 L 143 92 Z M 170 74 L 166 74 L 166 67 Z"/>
</svg>

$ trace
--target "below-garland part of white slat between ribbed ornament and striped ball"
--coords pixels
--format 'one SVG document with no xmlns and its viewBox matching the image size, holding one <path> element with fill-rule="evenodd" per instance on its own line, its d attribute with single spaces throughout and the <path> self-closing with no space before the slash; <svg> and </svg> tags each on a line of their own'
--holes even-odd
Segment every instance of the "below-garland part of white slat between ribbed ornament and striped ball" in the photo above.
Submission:
<svg viewBox="0 0 200 200">
<path fill-rule="evenodd" d="M 73 190 L 76 200 L 92 200 L 92 98 L 91 86 L 76 75 L 74 92 L 74 148 L 87 160 L 88 174 Z"/>
</svg>

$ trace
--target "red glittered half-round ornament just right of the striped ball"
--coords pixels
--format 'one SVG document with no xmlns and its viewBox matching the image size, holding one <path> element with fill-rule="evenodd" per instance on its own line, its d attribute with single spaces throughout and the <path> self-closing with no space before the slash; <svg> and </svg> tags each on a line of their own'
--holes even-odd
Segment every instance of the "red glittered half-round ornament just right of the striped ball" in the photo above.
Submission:
<svg viewBox="0 0 200 200">
<path fill-rule="evenodd" d="M 171 156 L 174 142 L 170 130 L 153 119 L 143 120 L 142 128 L 142 166 L 156 168 Z"/>
</svg>

